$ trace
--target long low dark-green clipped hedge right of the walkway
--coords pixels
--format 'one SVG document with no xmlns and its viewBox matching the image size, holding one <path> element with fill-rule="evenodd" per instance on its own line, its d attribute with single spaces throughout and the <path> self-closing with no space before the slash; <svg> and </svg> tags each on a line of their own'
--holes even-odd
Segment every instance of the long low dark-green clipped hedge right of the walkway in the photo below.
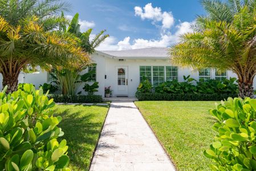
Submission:
<svg viewBox="0 0 256 171">
<path fill-rule="evenodd" d="M 140 101 L 219 101 L 227 97 L 237 97 L 237 94 L 168 94 L 168 93 L 137 93 L 136 97 Z"/>
</svg>

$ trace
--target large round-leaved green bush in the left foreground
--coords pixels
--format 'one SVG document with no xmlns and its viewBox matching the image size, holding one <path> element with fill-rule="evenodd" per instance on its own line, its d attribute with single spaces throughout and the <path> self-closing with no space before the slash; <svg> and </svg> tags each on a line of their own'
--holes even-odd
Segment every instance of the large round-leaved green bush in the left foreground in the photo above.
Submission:
<svg viewBox="0 0 256 171">
<path fill-rule="evenodd" d="M 53 116 L 53 99 L 43 89 L 24 84 L 6 94 L 0 92 L 0 170 L 70 170 L 66 140 Z"/>
</svg>

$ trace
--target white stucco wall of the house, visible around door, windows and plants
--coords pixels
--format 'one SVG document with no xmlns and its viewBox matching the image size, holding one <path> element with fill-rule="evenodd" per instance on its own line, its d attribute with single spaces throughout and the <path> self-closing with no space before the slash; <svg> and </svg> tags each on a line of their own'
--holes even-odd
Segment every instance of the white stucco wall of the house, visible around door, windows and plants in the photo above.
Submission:
<svg viewBox="0 0 256 171">
<path fill-rule="evenodd" d="M 104 88 L 111 86 L 113 90 L 113 96 L 116 96 L 117 88 L 117 67 L 128 67 L 128 96 L 135 96 L 137 87 L 140 83 L 140 66 L 172 66 L 172 64 L 167 59 L 125 59 L 124 61 L 119 61 L 119 59 L 109 58 L 103 54 L 92 54 L 91 56 L 93 63 L 96 63 L 96 81 L 99 82 L 98 92 L 95 92 L 96 95 L 101 95 L 104 97 Z M 82 71 L 81 74 L 87 72 L 87 69 Z M 105 79 L 106 75 L 106 79 Z M 178 81 L 182 82 L 183 75 L 190 75 L 192 78 L 198 80 L 199 75 L 198 71 L 193 70 L 192 68 L 178 68 Z M 214 78 L 214 72 L 212 71 L 212 76 Z M 227 78 L 235 77 L 233 72 L 227 72 Z M 19 75 L 19 83 L 32 83 L 36 88 L 40 84 L 47 82 L 47 72 L 40 71 L 32 74 L 21 73 Z M 2 83 L 2 75 L 0 75 L 0 83 Z M 84 94 L 84 83 L 82 83 L 78 92 L 81 91 Z M 254 79 L 254 88 L 256 87 L 256 79 Z M 0 84 L 2 89 L 2 84 Z"/>
</svg>

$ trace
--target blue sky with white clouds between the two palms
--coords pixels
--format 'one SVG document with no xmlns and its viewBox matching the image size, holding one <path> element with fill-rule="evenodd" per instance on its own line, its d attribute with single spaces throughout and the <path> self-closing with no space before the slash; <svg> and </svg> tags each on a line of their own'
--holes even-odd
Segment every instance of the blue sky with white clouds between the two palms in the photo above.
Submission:
<svg viewBox="0 0 256 171">
<path fill-rule="evenodd" d="M 125 50 L 143 47 L 168 47 L 178 35 L 190 31 L 196 15 L 204 14 L 198 0 L 129 1 L 68 0 L 79 13 L 82 31 L 94 34 L 106 29 L 110 35 L 99 50 Z"/>
</svg>

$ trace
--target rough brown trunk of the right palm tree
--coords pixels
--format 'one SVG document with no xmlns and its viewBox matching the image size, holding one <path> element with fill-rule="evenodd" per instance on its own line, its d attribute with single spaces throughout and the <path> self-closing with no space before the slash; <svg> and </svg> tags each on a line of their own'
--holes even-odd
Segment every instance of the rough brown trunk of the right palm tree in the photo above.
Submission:
<svg viewBox="0 0 256 171">
<path fill-rule="evenodd" d="M 253 82 L 238 82 L 238 89 L 239 89 L 239 97 L 251 97 L 253 98 Z"/>
</svg>

